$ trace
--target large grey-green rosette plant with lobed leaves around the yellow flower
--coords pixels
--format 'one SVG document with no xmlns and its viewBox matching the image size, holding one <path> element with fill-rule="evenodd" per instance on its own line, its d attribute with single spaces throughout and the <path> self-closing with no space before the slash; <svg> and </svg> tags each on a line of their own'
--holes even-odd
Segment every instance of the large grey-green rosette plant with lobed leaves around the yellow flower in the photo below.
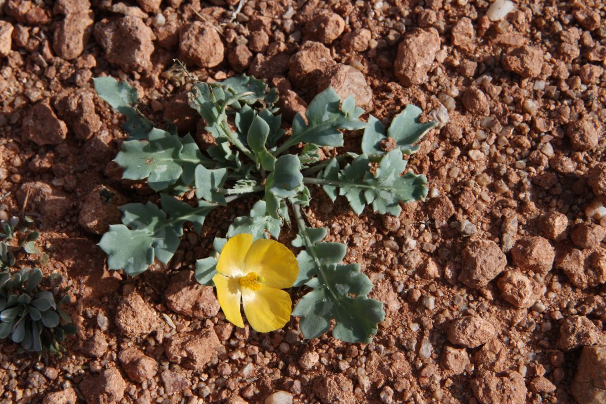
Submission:
<svg viewBox="0 0 606 404">
<path fill-rule="evenodd" d="M 400 204 L 427 195 L 427 179 L 407 172 L 402 154 L 414 153 L 418 148 L 415 142 L 435 122 L 419 122 L 421 110 L 407 105 L 386 129 L 373 116 L 362 121 L 364 111 L 356 107 L 353 96 L 342 100 L 328 88 L 311 101 L 304 115 L 295 116 L 290 136 L 285 136 L 276 89 L 243 75 L 208 84 L 193 82 L 190 106 L 204 119 L 205 130 L 215 141 L 201 150 L 190 134 L 179 136 L 170 124 L 164 129 L 155 127 L 142 116 L 136 108 L 137 91 L 127 83 L 96 78 L 95 89 L 127 118 L 122 128 L 130 137 L 115 159 L 124 168 L 123 177 L 146 180 L 161 194 L 159 206 L 148 202 L 121 207 L 122 224 L 112 225 L 99 243 L 108 256 L 109 268 L 135 276 L 156 259 L 167 263 L 179 246 L 185 222 L 199 232 L 211 210 L 241 196 L 253 196 L 257 200 L 250 214 L 236 217 L 226 238 L 214 240 L 219 261 L 215 254 L 196 262 L 198 282 L 215 284 L 219 300 L 225 302 L 224 283 L 235 282 L 222 267 L 222 257 L 233 256 L 225 248 L 229 249 L 239 234 L 249 234 L 245 237 L 252 249 L 258 240 L 278 239 L 281 227 L 294 222 L 298 235 L 291 245 L 299 250 L 298 274 L 293 283 L 290 279 L 278 282 L 274 289 L 306 287 L 308 293 L 292 311 L 300 317 L 302 334 L 318 337 L 334 323 L 333 337 L 370 342 L 385 316 L 382 303 L 368 298 L 372 284 L 359 265 L 342 263 L 346 245 L 323 241 L 327 229 L 309 227 L 302 208 L 308 207 L 313 194 L 321 189 L 333 201 L 340 196 L 347 198 L 356 214 L 368 206 L 375 213 L 397 216 Z M 343 131 L 364 131 L 361 153 L 349 151 L 322 159 L 321 147 L 344 145 Z M 195 190 L 197 199 L 193 205 L 181 198 L 190 190 Z M 239 254 L 242 259 L 243 251 Z M 246 275 L 247 264 L 242 265 L 238 268 Z M 268 279 L 262 273 L 256 276 Z M 255 316 L 248 313 L 244 294 L 255 291 L 259 279 L 253 277 L 239 276 L 239 288 L 231 289 L 242 294 L 251 325 L 258 319 L 253 320 Z M 253 288 L 247 287 L 247 282 Z M 286 306 L 285 296 L 276 304 Z M 222 306 L 228 319 L 242 325 L 239 304 L 232 303 L 227 310 Z M 286 320 L 278 317 L 280 324 Z M 278 319 L 272 323 L 275 325 Z"/>
</svg>

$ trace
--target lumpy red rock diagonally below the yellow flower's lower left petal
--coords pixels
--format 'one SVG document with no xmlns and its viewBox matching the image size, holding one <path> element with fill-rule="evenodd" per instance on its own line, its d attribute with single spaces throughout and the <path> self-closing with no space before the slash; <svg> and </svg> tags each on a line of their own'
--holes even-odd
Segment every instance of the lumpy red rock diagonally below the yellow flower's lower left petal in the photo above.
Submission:
<svg viewBox="0 0 606 404">
<path fill-rule="evenodd" d="M 215 329 L 209 327 L 192 333 L 172 336 L 164 350 L 170 362 L 180 363 L 188 369 L 202 370 L 221 342 Z"/>
</svg>

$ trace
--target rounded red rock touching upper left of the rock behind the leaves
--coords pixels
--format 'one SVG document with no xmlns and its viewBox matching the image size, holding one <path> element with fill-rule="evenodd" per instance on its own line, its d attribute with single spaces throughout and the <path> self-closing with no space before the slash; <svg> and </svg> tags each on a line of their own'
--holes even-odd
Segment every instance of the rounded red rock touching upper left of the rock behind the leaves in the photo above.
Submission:
<svg viewBox="0 0 606 404">
<path fill-rule="evenodd" d="M 305 42 L 290 58 L 288 77 L 297 87 L 315 89 L 324 70 L 334 64 L 327 47 L 320 42 Z"/>
</svg>

